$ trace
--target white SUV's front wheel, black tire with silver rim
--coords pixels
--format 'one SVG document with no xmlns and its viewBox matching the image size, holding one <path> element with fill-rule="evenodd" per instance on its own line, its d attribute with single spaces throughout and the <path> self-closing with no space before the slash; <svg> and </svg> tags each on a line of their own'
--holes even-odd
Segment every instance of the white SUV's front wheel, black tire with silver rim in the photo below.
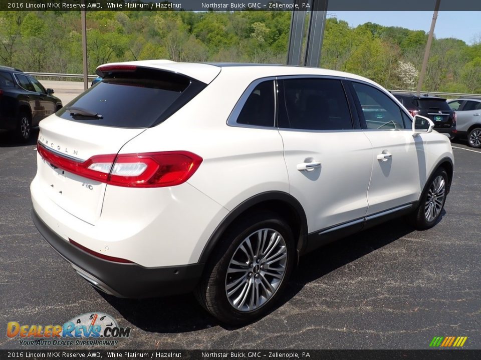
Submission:
<svg viewBox="0 0 481 360">
<path fill-rule="evenodd" d="M 446 170 L 439 167 L 426 183 L 419 205 L 407 217 L 417 230 L 426 230 L 437 223 L 446 202 L 447 182 Z"/>
</svg>

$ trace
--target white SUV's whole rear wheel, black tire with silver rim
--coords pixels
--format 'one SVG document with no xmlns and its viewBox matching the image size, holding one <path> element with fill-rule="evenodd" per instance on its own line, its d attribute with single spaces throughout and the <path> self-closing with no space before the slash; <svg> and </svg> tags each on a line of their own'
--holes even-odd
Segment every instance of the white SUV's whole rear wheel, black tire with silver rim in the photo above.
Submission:
<svg viewBox="0 0 481 360">
<path fill-rule="evenodd" d="M 292 231 L 277 214 L 260 211 L 240 218 L 208 261 L 197 300 L 221 322 L 252 322 L 274 308 L 295 256 Z"/>
</svg>

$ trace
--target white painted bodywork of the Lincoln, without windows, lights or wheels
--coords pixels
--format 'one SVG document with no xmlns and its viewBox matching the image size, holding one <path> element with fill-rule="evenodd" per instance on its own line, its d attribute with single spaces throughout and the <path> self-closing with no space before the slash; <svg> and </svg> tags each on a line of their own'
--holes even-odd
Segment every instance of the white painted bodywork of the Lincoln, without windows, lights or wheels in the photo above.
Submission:
<svg viewBox="0 0 481 360">
<path fill-rule="evenodd" d="M 200 167 L 177 186 L 129 188 L 59 174 L 39 155 L 31 192 L 39 217 L 66 241 L 71 238 L 142 266 L 197 262 L 222 219 L 262 192 L 295 197 L 313 232 L 416 201 L 437 162 L 453 158 L 449 140 L 437 132 L 413 137 L 411 130 L 309 132 L 226 124 L 239 97 L 258 78 L 327 75 L 379 86 L 361 76 L 287 66 L 219 67 L 159 60 L 122 64 L 182 73 L 209 85 L 164 122 L 147 129 L 88 125 L 51 115 L 41 122 L 40 141 L 53 143 L 51 147 L 64 154 L 75 149 L 75 156 L 83 160 L 119 151 L 186 150 L 203 158 Z M 375 159 L 383 149 L 393 153 L 390 176 Z M 296 164 L 307 157 L 322 162 L 318 179 L 297 170 Z M 94 190 L 83 189 L 83 182 Z"/>
</svg>

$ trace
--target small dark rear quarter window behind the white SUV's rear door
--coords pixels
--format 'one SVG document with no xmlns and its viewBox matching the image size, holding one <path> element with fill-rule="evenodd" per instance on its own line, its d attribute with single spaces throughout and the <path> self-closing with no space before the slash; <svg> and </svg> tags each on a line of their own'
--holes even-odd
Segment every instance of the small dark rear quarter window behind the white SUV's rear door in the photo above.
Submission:
<svg viewBox="0 0 481 360">
<path fill-rule="evenodd" d="M 274 127 L 274 81 L 256 86 L 237 116 L 237 123 Z"/>
</svg>

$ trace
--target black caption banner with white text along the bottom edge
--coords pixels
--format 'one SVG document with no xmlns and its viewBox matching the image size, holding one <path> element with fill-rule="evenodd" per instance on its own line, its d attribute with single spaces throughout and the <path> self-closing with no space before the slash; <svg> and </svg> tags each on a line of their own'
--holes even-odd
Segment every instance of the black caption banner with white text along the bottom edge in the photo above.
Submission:
<svg viewBox="0 0 481 360">
<path fill-rule="evenodd" d="M 312 360 L 474 360 L 481 350 L 0 350 L 4 359 L 312 359 Z"/>
</svg>

